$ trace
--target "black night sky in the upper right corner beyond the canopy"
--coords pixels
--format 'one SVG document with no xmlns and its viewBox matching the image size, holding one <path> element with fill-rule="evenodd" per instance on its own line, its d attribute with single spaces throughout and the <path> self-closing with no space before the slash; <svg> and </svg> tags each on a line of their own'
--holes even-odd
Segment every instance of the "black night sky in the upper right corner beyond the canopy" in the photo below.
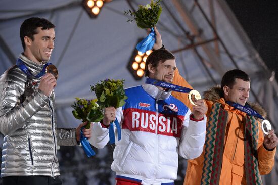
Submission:
<svg viewBox="0 0 278 185">
<path fill-rule="evenodd" d="M 255 49 L 278 79 L 278 1 L 226 0 Z"/>
</svg>

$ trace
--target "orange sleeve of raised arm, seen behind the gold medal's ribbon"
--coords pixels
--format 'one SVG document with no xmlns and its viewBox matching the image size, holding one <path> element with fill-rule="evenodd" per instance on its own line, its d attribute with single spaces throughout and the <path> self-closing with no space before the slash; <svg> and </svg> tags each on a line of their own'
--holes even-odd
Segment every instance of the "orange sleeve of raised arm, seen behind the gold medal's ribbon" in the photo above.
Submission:
<svg viewBox="0 0 278 185">
<path fill-rule="evenodd" d="M 172 83 L 179 85 L 179 86 L 193 89 L 192 86 L 187 82 L 187 80 L 184 79 L 179 74 L 178 69 L 175 70 L 174 79 L 173 79 Z M 190 110 L 192 110 L 193 105 L 189 102 L 188 93 L 172 91 L 172 96 L 175 97 L 176 99 L 180 100 L 181 102 L 183 102 Z"/>
</svg>

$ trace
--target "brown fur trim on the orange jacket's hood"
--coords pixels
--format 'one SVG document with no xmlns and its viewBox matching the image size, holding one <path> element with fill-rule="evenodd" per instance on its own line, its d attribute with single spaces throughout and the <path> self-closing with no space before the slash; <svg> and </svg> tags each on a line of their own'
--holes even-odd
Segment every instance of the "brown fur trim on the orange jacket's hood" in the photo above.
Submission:
<svg viewBox="0 0 278 185">
<path fill-rule="evenodd" d="M 212 88 L 204 92 L 204 99 L 212 102 L 217 102 L 222 97 L 221 93 L 222 90 L 220 85 L 213 86 Z M 266 111 L 258 103 L 247 102 L 247 104 L 256 112 L 258 112 L 262 117 L 266 117 Z"/>
</svg>

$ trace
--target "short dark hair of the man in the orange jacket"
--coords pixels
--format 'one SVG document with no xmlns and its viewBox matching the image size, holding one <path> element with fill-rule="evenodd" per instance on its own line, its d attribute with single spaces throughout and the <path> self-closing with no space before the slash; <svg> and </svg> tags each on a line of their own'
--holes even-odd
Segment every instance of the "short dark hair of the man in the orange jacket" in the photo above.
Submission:
<svg viewBox="0 0 278 185">
<path fill-rule="evenodd" d="M 230 70 L 224 74 L 221 80 L 221 89 L 223 90 L 224 86 L 233 88 L 237 78 L 243 81 L 250 81 L 250 77 L 246 72 L 239 69 Z"/>
</svg>

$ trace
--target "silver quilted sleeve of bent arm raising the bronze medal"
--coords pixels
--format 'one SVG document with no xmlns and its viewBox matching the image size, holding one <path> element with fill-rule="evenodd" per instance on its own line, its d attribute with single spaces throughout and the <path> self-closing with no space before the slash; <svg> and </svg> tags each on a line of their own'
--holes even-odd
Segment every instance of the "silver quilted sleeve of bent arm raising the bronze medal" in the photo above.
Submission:
<svg viewBox="0 0 278 185">
<path fill-rule="evenodd" d="M 49 102 L 42 91 L 35 90 L 22 102 L 26 77 L 14 71 L 0 78 L 0 131 L 8 135 L 24 126 L 26 121 Z"/>
</svg>

